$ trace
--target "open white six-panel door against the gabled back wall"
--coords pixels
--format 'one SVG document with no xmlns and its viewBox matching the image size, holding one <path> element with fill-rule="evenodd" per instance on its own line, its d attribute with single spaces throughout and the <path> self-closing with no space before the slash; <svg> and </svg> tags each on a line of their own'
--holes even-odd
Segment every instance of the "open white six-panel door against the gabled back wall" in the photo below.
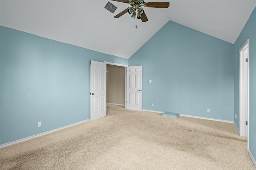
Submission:
<svg viewBox="0 0 256 170">
<path fill-rule="evenodd" d="M 127 109 L 142 110 L 142 66 L 127 67 Z"/>
</svg>

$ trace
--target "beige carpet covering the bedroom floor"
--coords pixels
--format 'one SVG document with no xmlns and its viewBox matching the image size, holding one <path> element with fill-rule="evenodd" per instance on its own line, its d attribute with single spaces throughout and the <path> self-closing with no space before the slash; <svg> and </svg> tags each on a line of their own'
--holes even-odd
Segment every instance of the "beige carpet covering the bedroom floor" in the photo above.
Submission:
<svg viewBox="0 0 256 170">
<path fill-rule="evenodd" d="M 130 111 L 0 149 L 1 170 L 255 170 L 232 123 Z"/>
</svg>

